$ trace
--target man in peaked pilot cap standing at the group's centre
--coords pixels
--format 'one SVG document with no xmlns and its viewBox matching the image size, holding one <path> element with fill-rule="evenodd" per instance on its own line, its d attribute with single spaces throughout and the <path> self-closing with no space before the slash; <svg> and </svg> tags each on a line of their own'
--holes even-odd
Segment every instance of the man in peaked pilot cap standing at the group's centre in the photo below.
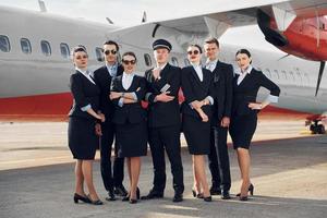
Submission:
<svg viewBox="0 0 327 218">
<path fill-rule="evenodd" d="M 183 201 L 184 182 L 180 144 L 180 105 L 178 93 L 181 69 L 168 63 L 171 45 L 165 39 L 153 43 L 156 68 L 145 72 L 147 81 L 146 100 L 148 105 L 148 143 L 154 164 L 154 186 L 143 199 L 161 198 L 166 187 L 165 150 L 168 155 L 173 202 Z"/>
</svg>

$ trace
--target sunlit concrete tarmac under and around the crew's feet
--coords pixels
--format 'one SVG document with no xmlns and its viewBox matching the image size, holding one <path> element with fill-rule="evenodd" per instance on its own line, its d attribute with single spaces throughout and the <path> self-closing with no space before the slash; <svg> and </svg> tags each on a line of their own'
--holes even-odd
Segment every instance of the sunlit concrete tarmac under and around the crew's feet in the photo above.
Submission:
<svg viewBox="0 0 327 218">
<path fill-rule="evenodd" d="M 107 202 L 98 159 L 94 180 L 105 205 L 74 204 L 74 162 L 66 146 L 65 122 L 0 123 L 0 216 L 57 217 L 313 217 L 327 214 L 327 135 L 310 135 L 302 121 L 259 121 L 251 147 L 251 178 L 255 186 L 249 202 L 234 196 L 240 189 L 237 156 L 229 147 L 232 199 L 214 196 L 205 203 L 192 196 L 191 156 L 182 138 L 184 201 L 172 203 L 167 161 L 165 198 L 135 205 Z M 230 142 L 230 141 L 229 141 Z M 98 154 L 97 154 L 98 157 Z M 207 169 L 207 177 L 209 171 Z M 152 187 L 152 157 L 142 158 L 141 194 Z M 128 178 L 124 179 L 128 187 Z"/>
</svg>

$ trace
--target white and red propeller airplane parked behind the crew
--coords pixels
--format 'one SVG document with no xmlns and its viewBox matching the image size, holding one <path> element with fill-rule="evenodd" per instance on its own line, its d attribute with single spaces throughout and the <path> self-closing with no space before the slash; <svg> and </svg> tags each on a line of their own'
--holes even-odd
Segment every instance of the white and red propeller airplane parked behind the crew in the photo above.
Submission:
<svg viewBox="0 0 327 218">
<path fill-rule="evenodd" d="M 143 22 L 119 27 L 47 12 L 0 7 L 0 119 L 64 120 L 72 104 L 70 49 L 78 44 L 89 53 L 89 68 L 104 64 L 101 43 L 116 40 L 121 53 L 136 53 L 140 74 L 154 65 L 152 41 L 172 43 L 171 64 L 190 64 L 185 49 L 219 38 L 228 28 L 257 24 L 268 43 L 288 53 L 249 48 L 254 66 L 281 88 L 278 105 L 267 111 L 304 114 L 313 133 L 325 133 L 327 121 L 327 2 L 324 0 L 266 0 L 234 7 L 213 7 L 185 17 Z M 235 4 L 235 3 L 234 3 Z M 246 45 L 222 45 L 219 59 L 234 63 Z M 306 60 L 305 60 L 306 59 Z M 318 62 L 317 62 L 318 61 Z M 325 72 L 325 78 L 323 73 Z M 323 81 L 323 82 L 322 82 Z M 261 89 L 258 99 L 265 96 Z"/>
</svg>

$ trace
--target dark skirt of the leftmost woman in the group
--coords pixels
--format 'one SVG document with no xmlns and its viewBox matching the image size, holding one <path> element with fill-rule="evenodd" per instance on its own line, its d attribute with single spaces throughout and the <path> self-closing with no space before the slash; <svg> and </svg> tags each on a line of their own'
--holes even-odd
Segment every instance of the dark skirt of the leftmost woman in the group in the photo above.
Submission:
<svg viewBox="0 0 327 218">
<path fill-rule="evenodd" d="M 69 147 L 75 159 L 93 160 L 99 138 L 95 134 L 95 122 L 89 119 L 70 117 Z"/>
</svg>

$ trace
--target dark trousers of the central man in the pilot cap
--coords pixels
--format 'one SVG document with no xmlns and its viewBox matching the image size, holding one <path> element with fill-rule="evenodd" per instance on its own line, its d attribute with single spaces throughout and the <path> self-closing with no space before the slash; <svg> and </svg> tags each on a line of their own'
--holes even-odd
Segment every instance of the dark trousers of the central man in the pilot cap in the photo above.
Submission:
<svg viewBox="0 0 327 218">
<path fill-rule="evenodd" d="M 166 187 L 166 150 L 171 165 L 174 192 L 182 194 L 184 192 L 184 181 L 181 158 L 180 125 L 149 128 L 148 142 L 154 164 L 153 190 L 164 193 Z"/>
</svg>

